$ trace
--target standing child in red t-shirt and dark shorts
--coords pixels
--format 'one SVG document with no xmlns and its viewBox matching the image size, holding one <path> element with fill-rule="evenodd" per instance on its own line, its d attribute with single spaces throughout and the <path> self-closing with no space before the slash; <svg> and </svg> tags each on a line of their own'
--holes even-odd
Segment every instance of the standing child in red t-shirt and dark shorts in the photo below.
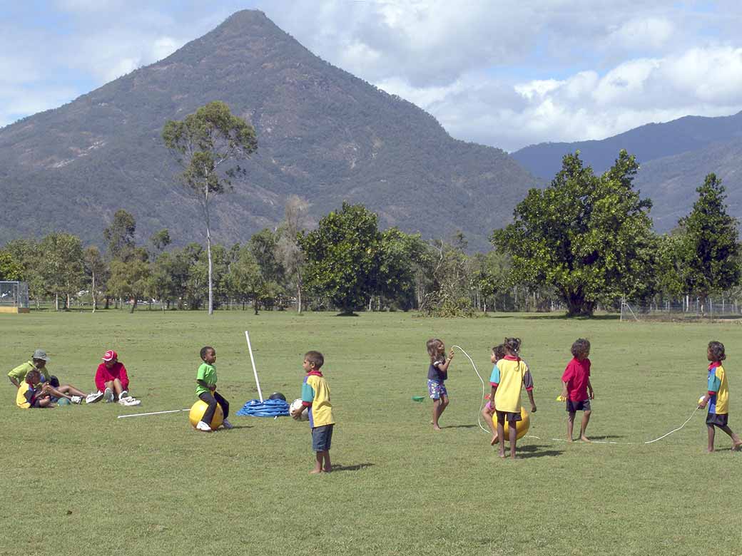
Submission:
<svg viewBox="0 0 742 556">
<path fill-rule="evenodd" d="M 562 399 L 567 403 L 567 442 L 572 442 L 574 415 L 582 411 L 582 425 L 580 426 L 580 440 L 590 442 L 585 436 L 585 429 L 590 421 L 590 400 L 595 397 L 593 385 L 590 383 L 590 342 L 584 338 L 575 340 L 572 344 L 572 360 L 562 374 Z"/>
</svg>

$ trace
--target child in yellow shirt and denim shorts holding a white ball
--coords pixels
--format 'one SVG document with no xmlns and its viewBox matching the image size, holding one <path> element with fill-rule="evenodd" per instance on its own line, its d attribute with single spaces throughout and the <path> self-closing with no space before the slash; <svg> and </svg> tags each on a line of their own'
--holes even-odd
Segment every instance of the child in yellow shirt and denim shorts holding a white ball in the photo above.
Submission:
<svg viewBox="0 0 742 556">
<path fill-rule="evenodd" d="M 324 356 L 319 351 L 307 351 L 301 364 L 306 376 L 301 387 L 301 405 L 309 408 L 309 427 L 312 428 L 312 450 L 315 451 L 315 469 L 310 474 L 329 473 L 332 463 L 329 460 L 329 449 L 332 445 L 332 403 L 329 401 L 329 386 L 320 369 L 324 365 Z M 302 411 L 293 415 L 298 420 Z"/>
</svg>

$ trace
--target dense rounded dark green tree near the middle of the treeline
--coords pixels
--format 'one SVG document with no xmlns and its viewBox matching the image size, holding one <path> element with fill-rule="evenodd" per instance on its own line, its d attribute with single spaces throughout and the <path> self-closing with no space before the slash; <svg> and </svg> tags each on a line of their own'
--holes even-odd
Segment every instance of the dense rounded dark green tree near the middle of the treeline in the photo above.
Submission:
<svg viewBox="0 0 742 556">
<path fill-rule="evenodd" d="M 381 243 L 376 215 L 363 205 L 343 203 L 301 236 L 306 284 L 329 297 L 342 314 L 364 306 L 373 291 L 376 254 Z"/>
</svg>

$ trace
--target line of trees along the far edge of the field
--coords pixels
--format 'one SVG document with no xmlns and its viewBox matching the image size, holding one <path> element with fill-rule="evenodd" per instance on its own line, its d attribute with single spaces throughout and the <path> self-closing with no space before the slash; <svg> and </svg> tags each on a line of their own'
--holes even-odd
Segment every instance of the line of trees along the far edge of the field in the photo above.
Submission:
<svg viewBox="0 0 742 556">
<path fill-rule="evenodd" d="M 591 315 L 626 298 L 640 302 L 692 295 L 701 305 L 740 283 L 737 222 L 724 188 L 709 174 L 691 213 L 669 234 L 651 229 L 651 201 L 633 188 L 633 156 L 621 151 L 601 176 L 579 152 L 565 156 L 548 188 L 533 189 L 513 222 L 493 232 L 493 250 L 470 254 L 463 234 L 424 241 L 378 229 L 375 214 L 344 203 L 305 229 L 308 204 L 286 202 L 285 219 L 230 247 L 173 248 L 167 230 L 144 245 L 136 222 L 117 211 L 102 232 L 105 250 L 62 232 L 16 239 L 0 249 L 0 279 L 28 282 L 37 302 L 57 309 L 85 299 L 93 311 L 139 300 L 162 310 L 216 308 L 418 309 L 456 316 L 476 311 L 548 311 Z M 150 303 L 151 306 L 151 303 Z"/>
</svg>

